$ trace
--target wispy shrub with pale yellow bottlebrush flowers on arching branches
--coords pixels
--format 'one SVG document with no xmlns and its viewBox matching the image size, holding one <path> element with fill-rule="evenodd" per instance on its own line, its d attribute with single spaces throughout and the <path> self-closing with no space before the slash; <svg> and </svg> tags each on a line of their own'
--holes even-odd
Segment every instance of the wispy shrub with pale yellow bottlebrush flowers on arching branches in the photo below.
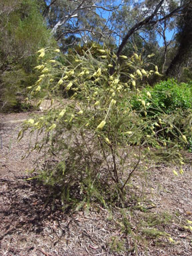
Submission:
<svg viewBox="0 0 192 256">
<path fill-rule="evenodd" d="M 159 75 L 157 66 L 154 71 L 145 71 L 136 53 L 130 59 L 120 56 L 119 65 L 117 56 L 108 49 L 98 49 L 97 59 L 89 50 L 83 56 L 66 56 L 68 64 L 63 65 L 58 61 L 58 49 L 41 49 L 39 58 L 46 58 L 47 52 L 53 56 L 36 67 L 41 74 L 28 88 L 29 99 L 43 91 L 51 103 L 57 97 L 60 107 L 53 104 L 43 116 L 25 122 L 23 130 L 44 134 L 32 149 L 43 149 L 43 164 L 41 161 L 36 167 L 38 177 L 57 192 L 63 205 L 66 201 L 94 200 L 103 205 L 106 201 L 123 204 L 131 176 L 139 163 L 142 169 L 145 159 L 151 157 L 165 157 L 181 167 L 183 159 L 177 145 L 162 143 L 157 137 L 161 130 L 171 131 L 169 118 L 151 119 L 146 97 L 137 89 L 143 77 Z M 111 67 L 115 67 L 113 75 L 109 73 Z M 67 103 L 63 94 L 69 99 Z M 139 103 L 137 110 L 131 105 L 133 97 Z M 151 99 L 151 93 L 147 92 L 147 97 Z M 187 143 L 182 133 L 180 138 Z"/>
</svg>

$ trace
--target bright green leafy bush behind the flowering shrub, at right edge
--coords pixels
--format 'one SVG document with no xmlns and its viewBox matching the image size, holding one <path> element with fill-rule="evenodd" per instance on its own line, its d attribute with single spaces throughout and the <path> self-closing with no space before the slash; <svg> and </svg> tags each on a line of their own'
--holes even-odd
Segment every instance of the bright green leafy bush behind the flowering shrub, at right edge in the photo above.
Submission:
<svg viewBox="0 0 192 256">
<path fill-rule="evenodd" d="M 147 91 L 151 94 L 150 98 L 147 97 Z M 167 142 L 177 140 L 181 145 L 182 135 L 191 141 L 191 83 L 177 83 L 173 79 L 168 79 L 157 83 L 154 87 L 146 87 L 142 95 L 146 101 L 148 115 L 154 122 L 159 121 L 161 124 L 158 126 L 156 123 L 153 128 L 162 143 L 166 145 Z M 139 109 L 136 97 L 132 99 L 132 104 L 133 109 Z M 165 120 L 169 123 L 167 131 L 163 124 Z M 187 147 L 191 148 L 189 141 Z"/>
</svg>

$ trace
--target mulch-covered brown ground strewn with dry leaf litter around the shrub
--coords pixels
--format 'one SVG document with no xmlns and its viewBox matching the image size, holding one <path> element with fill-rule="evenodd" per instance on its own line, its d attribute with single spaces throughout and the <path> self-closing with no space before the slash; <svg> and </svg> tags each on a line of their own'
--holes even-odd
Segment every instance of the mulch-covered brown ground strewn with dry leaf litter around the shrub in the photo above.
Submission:
<svg viewBox="0 0 192 256">
<path fill-rule="evenodd" d="M 140 196 L 133 209 L 63 212 L 59 202 L 52 209 L 46 187 L 26 180 L 37 155 L 22 159 L 34 141 L 26 133 L 17 143 L 17 134 L 28 117 L 0 114 L 0 255 L 192 255 L 190 153 L 179 177 L 175 167 L 159 165 L 143 182 L 133 180 Z"/>
</svg>

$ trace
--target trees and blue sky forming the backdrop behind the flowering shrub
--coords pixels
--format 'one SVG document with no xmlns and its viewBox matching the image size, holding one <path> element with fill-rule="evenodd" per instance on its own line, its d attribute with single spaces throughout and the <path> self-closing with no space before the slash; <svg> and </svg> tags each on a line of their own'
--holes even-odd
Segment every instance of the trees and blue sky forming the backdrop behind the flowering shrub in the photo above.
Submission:
<svg viewBox="0 0 192 256">
<path fill-rule="evenodd" d="M 117 56 L 153 53 L 163 75 L 191 79 L 191 1 L 6 0 L 0 15 L 4 110 L 21 107 L 21 91 L 35 81 L 37 50 L 54 43 L 68 55 L 91 43 Z"/>
</svg>

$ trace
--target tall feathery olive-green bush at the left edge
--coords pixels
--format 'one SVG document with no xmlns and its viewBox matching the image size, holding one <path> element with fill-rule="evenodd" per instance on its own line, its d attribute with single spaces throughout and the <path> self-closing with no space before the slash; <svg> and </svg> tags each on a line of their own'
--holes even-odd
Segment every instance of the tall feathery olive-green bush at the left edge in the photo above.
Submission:
<svg viewBox="0 0 192 256">
<path fill-rule="evenodd" d="M 23 89 L 35 83 L 36 51 L 47 45 L 50 33 L 36 1 L 5 1 L 0 23 L 0 91 L 3 111 L 21 110 Z M 53 40 L 50 40 L 50 44 Z M 49 43 L 48 43 L 49 44 Z"/>
</svg>

